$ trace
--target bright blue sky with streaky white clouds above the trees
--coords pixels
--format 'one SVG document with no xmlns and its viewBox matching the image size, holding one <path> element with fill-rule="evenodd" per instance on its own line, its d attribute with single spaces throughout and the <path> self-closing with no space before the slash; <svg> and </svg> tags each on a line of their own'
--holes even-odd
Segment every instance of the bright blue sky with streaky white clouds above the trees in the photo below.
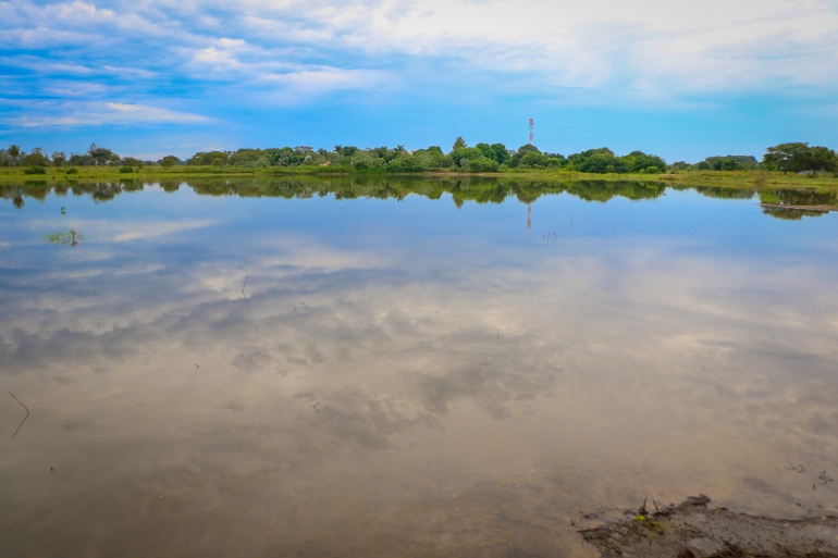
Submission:
<svg viewBox="0 0 838 558">
<path fill-rule="evenodd" d="M 838 0 L 0 1 L 0 147 L 838 148 Z"/>
</svg>

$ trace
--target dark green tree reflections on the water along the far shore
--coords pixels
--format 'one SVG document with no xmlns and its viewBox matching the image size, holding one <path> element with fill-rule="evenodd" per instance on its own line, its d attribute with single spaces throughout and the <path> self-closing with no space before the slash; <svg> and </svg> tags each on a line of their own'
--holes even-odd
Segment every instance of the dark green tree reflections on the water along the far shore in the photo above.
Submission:
<svg viewBox="0 0 838 558">
<path fill-rule="evenodd" d="M 418 177 L 418 176 L 334 176 L 297 178 L 190 178 L 189 182 L 141 181 L 115 182 L 25 182 L 0 185 L 0 197 L 10 199 L 15 207 L 24 206 L 24 197 L 45 200 L 56 196 L 89 196 L 94 201 L 108 201 L 125 193 L 139 191 L 153 184 L 167 193 L 182 186 L 199 196 L 235 196 L 270 198 L 311 198 L 333 196 L 336 199 L 405 199 L 409 195 L 440 199 L 449 195 L 457 207 L 467 202 L 501 203 L 514 197 L 532 203 L 541 196 L 567 194 L 586 201 L 606 202 L 615 197 L 630 200 L 654 199 L 669 189 L 694 190 L 702 196 L 720 199 L 751 199 L 759 194 L 764 203 L 791 206 L 835 206 L 836 194 L 805 189 L 756 190 L 722 186 L 694 186 L 632 181 L 546 181 L 516 177 Z M 780 219 L 800 219 L 821 214 L 816 211 L 764 208 L 765 214 Z M 796 216 L 793 216 L 796 215 Z"/>
</svg>

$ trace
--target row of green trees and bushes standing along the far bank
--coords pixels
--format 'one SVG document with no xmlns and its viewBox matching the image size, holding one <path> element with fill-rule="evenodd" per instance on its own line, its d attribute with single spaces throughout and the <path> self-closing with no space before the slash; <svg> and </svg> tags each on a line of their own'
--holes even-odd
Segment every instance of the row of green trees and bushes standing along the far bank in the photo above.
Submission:
<svg viewBox="0 0 838 558">
<path fill-rule="evenodd" d="M 570 156 L 541 151 L 533 145 L 526 144 L 518 149 L 507 149 L 503 144 L 480 142 L 469 146 L 458 137 L 446 153 L 439 146 L 408 151 L 404 146 L 374 147 L 361 149 L 355 146 L 334 146 L 326 149 L 313 149 L 309 146 L 254 149 L 243 148 L 236 151 L 199 151 L 193 157 L 181 160 L 167 156 L 157 161 L 144 161 L 132 157 L 120 157 L 111 149 L 91 144 L 83 153 L 56 151 L 48 156 L 42 149 L 34 148 L 26 153 L 20 146 L 12 145 L 0 149 L 0 163 L 3 166 L 25 166 L 35 172 L 48 166 L 114 166 L 122 172 L 134 172 L 145 166 L 237 166 L 251 169 L 271 168 L 330 168 L 334 171 L 389 171 L 423 172 L 433 170 L 454 170 L 460 172 L 504 172 L 539 169 L 564 169 L 582 173 L 641 173 L 657 174 L 686 170 L 699 171 L 744 171 L 766 170 L 811 173 L 838 173 L 838 156 L 823 146 L 810 147 L 809 144 L 779 144 L 766 149 L 762 161 L 753 156 L 714 156 L 694 164 L 677 161 L 667 164 L 661 157 L 631 151 L 617 156 L 608 148 L 588 149 Z"/>
</svg>

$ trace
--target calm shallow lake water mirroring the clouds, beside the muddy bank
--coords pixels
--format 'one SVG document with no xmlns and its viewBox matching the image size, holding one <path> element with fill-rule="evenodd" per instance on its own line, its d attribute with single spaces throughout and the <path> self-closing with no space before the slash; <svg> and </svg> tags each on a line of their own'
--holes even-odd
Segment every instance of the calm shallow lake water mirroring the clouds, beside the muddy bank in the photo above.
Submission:
<svg viewBox="0 0 838 558">
<path fill-rule="evenodd" d="M 30 414 L 12 437 L 0 398 L 0 556 L 588 557 L 577 530 L 644 498 L 838 510 L 835 213 L 628 183 L 3 188 L 0 387 Z"/>
</svg>

